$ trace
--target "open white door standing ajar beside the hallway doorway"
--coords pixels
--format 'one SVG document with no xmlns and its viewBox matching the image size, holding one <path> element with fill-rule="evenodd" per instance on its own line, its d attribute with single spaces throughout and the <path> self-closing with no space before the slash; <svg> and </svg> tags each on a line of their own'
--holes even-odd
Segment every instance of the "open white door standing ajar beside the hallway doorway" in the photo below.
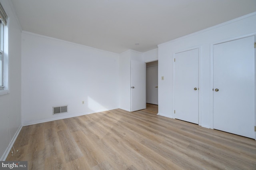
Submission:
<svg viewBox="0 0 256 170">
<path fill-rule="evenodd" d="M 131 111 L 146 109 L 146 63 L 131 61 Z"/>
</svg>

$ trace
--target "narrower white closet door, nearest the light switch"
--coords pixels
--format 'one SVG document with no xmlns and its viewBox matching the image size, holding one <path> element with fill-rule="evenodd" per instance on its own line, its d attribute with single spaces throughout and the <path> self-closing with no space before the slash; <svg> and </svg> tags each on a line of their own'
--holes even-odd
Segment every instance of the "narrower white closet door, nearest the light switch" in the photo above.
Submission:
<svg viewBox="0 0 256 170">
<path fill-rule="evenodd" d="M 199 50 L 175 54 L 175 119 L 198 124 Z"/>
</svg>

